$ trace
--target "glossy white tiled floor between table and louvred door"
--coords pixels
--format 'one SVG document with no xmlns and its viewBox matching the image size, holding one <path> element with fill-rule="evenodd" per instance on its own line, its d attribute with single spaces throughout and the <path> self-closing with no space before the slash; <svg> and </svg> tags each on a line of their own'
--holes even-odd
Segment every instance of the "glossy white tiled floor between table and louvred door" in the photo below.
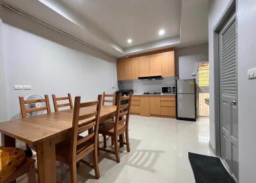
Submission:
<svg viewBox="0 0 256 183">
<path fill-rule="evenodd" d="M 184 122 L 131 115 L 130 119 L 131 152 L 121 148 L 119 164 L 115 155 L 100 152 L 100 179 L 95 180 L 94 171 L 81 164 L 77 170 L 79 182 L 195 182 L 188 152 L 214 155 L 209 148 L 207 118 Z M 70 182 L 68 166 L 60 163 L 58 181 Z"/>
</svg>

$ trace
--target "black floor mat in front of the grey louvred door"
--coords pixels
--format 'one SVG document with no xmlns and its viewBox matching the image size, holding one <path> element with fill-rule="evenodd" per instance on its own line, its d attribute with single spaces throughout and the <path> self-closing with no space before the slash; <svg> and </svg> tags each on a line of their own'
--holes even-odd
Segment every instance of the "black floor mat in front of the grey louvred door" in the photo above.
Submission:
<svg viewBox="0 0 256 183">
<path fill-rule="evenodd" d="M 189 152 L 196 183 L 236 183 L 218 157 Z"/>
</svg>

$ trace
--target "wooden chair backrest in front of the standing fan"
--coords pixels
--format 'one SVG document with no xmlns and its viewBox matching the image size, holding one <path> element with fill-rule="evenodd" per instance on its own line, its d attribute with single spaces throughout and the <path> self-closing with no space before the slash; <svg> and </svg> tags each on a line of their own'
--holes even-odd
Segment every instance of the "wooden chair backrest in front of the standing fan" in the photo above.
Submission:
<svg viewBox="0 0 256 183">
<path fill-rule="evenodd" d="M 44 111 L 47 110 L 47 113 L 51 113 L 51 107 L 49 103 L 49 97 L 48 95 L 44 95 L 44 99 L 38 99 L 38 100 L 24 100 L 24 97 L 19 97 L 20 100 L 20 113 L 22 118 L 26 118 L 27 113 L 32 113 L 36 111 Z M 31 109 L 26 109 L 26 104 L 35 104 L 37 102 L 45 102 L 45 107 L 34 107 Z"/>
</svg>

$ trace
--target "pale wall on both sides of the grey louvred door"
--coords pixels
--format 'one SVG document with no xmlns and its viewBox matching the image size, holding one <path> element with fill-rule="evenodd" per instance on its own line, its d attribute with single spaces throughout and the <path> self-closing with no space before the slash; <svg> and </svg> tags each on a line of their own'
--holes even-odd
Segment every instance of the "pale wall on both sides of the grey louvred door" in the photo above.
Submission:
<svg viewBox="0 0 256 183">
<path fill-rule="evenodd" d="M 247 70 L 256 67 L 256 1 L 237 0 L 237 76 L 238 76 L 238 118 L 239 118 L 239 182 L 256 182 L 256 80 L 247 79 Z M 213 65 L 213 28 L 220 19 L 229 0 L 212 1 L 209 13 L 209 62 Z M 210 72 L 214 83 L 213 72 Z M 214 86 L 210 88 L 210 139 L 214 143 Z"/>
</svg>

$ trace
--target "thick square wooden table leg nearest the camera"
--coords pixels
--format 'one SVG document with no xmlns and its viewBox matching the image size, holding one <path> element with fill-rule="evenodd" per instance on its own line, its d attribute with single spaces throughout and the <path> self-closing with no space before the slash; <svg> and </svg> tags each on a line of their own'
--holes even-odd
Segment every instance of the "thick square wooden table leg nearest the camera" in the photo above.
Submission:
<svg viewBox="0 0 256 183">
<path fill-rule="evenodd" d="M 39 182 L 56 183 L 55 143 L 45 141 L 37 145 Z"/>
</svg>

